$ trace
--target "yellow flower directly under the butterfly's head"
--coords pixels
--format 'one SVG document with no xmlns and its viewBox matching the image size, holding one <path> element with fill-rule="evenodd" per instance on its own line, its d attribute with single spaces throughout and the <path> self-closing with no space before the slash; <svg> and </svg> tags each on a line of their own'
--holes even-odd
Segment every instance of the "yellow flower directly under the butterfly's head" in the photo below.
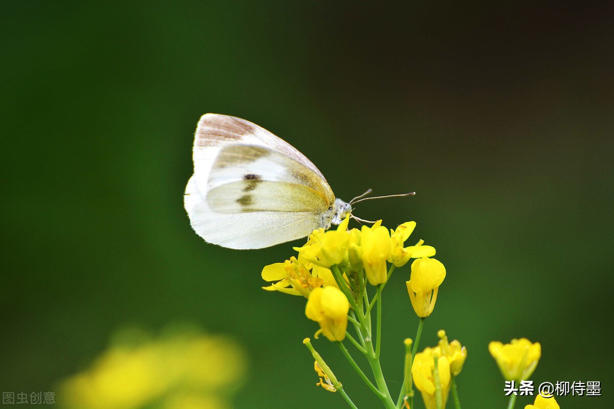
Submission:
<svg viewBox="0 0 614 409">
<path fill-rule="evenodd" d="M 294 247 L 299 258 L 329 269 L 340 264 L 348 253 L 348 223 L 346 218 L 336 230 L 318 229 L 311 232 L 308 242 L 303 247 Z"/>
</svg>

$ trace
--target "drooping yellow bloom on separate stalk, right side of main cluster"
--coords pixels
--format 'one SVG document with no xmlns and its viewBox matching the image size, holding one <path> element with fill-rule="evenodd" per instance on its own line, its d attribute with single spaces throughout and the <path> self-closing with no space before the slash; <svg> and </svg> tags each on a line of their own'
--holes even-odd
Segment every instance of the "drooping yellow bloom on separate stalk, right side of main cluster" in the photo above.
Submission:
<svg viewBox="0 0 614 409">
<path fill-rule="evenodd" d="M 419 317 L 427 317 L 433 312 L 437 291 L 444 278 L 446 267 L 436 259 L 424 257 L 411 264 L 410 281 L 406 281 L 406 285 L 411 305 Z"/>
</svg>

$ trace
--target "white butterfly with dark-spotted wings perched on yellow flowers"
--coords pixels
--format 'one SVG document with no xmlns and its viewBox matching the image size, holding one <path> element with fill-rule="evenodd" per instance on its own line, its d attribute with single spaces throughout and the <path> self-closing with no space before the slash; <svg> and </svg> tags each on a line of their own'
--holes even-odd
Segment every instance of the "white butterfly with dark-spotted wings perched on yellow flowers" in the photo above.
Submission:
<svg viewBox="0 0 614 409">
<path fill-rule="evenodd" d="M 270 247 L 328 229 L 348 215 L 356 218 L 352 202 L 370 193 L 350 202 L 336 198 L 322 172 L 292 145 L 217 113 L 198 121 L 193 161 L 185 210 L 196 234 L 222 247 Z"/>
</svg>

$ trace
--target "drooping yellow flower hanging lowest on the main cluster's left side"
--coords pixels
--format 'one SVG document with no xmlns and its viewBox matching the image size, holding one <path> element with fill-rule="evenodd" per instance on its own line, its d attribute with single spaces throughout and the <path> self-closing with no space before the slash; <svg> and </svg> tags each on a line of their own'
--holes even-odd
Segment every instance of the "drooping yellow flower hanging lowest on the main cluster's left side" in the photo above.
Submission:
<svg viewBox="0 0 614 409">
<path fill-rule="evenodd" d="M 305 307 L 307 318 L 320 324 L 330 341 L 343 341 L 348 328 L 349 302 L 340 289 L 328 286 L 311 291 Z"/>
</svg>

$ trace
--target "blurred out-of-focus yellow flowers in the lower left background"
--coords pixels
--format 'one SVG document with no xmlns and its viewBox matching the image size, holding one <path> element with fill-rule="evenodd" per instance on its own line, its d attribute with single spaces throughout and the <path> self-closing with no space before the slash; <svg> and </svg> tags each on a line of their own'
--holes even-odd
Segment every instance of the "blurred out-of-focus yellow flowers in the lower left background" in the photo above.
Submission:
<svg viewBox="0 0 614 409">
<path fill-rule="evenodd" d="M 112 345 L 87 370 L 63 382 L 58 401 L 68 409 L 229 408 L 228 391 L 246 370 L 243 350 L 220 335 L 170 332 Z M 116 338 L 134 338 L 126 334 Z"/>
</svg>

